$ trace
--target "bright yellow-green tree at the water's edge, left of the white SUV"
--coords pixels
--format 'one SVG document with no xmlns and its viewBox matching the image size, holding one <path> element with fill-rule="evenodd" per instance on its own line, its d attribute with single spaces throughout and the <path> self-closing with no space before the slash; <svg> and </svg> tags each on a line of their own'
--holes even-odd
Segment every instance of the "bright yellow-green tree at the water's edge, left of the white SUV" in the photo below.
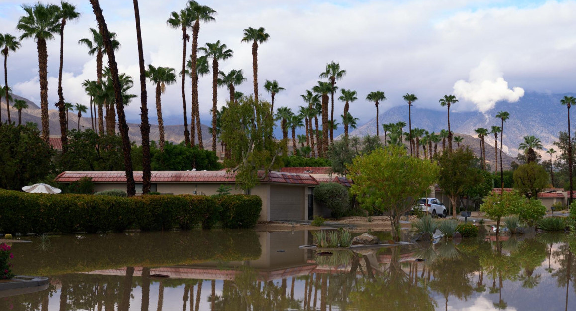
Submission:
<svg viewBox="0 0 576 311">
<path fill-rule="evenodd" d="M 395 241 L 400 240 L 400 217 L 426 194 L 439 172 L 435 163 L 408 156 L 397 145 L 357 156 L 347 168 L 348 178 L 354 181 L 351 193 L 362 208 L 389 217 Z"/>
</svg>

